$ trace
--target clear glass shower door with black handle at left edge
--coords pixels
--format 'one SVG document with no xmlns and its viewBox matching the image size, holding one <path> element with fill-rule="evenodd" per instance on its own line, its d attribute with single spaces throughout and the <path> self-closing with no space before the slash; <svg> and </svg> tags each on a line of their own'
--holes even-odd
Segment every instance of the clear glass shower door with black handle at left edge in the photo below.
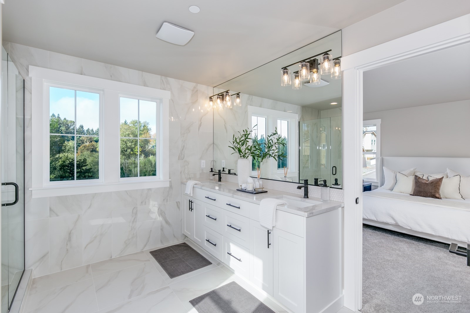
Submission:
<svg viewBox="0 0 470 313">
<path fill-rule="evenodd" d="M 1 313 L 24 272 L 24 80 L 2 47 Z"/>
</svg>

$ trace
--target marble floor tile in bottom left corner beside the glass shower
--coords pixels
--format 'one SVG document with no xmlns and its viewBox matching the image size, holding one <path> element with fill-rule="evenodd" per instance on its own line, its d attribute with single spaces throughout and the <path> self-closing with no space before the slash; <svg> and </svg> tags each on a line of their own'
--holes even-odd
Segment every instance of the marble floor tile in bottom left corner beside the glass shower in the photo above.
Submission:
<svg viewBox="0 0 470 313">
<path fill-rule="evenodd" d="M 24 313 L 94 313 L 98 311 L 93 279 L 30 295 Z"/>
</svg>

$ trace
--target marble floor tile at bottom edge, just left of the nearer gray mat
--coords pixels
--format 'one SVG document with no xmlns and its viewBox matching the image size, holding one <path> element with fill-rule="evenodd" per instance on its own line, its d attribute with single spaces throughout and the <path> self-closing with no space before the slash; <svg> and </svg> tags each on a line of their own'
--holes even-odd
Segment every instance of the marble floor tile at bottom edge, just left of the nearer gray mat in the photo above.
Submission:
<svg viewBox="0 0 470 313">
<path fill-rule="evenodd" d="M 164 287 L 145 295 L 110 306 L 100 313 L 186 313 L 188 310 L 170 287 Z"/>
</svg>

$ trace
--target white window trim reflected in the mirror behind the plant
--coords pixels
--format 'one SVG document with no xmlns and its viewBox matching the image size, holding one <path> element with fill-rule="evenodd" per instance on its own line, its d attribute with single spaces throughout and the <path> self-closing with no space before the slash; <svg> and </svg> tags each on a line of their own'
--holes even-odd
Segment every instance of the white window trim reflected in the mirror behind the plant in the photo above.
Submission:
<svg viewBox="0 0 470 313">
<path fill-rule="evenodd" d="M 251 125 L 251 117 L 255 116 L 262 116 L 266 117 L 266 131 L 269 133 L 270 130 L 274 130 L 277 127 L 277 120 L 287 120 L 289 122 L 289 153 L 291 156 L 288 159 L 289 171 L 288 176 L 298 176 L 298 114 L 290 113 L 290 112 L 283 112 L 273 109 L 268 109 L 264 107 L 253 107 L 247 106 L 248 111 L 248 126 L 249 128 L 253 128 L 254 125 Z M 271 174 L 278 175 L 282 174 L 284 176 L 284 170 L 277 168 L 277 162 L 271 162 Z M 257 175 L 256 171 L 251 172 L 252 175 Z"/>
</svg>

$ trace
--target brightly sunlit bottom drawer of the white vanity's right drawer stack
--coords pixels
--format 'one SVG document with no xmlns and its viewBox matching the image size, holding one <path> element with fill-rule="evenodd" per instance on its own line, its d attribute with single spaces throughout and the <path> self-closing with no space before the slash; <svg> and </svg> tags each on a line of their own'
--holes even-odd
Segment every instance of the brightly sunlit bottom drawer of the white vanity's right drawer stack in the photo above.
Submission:
<svg viewBox="0 0 470 313">
<path fill-rule="evenodd" d="M 235 274 L 250 278 L 250 251 L 240 244 L 224 237 L 222 261 L 231 267 Z"/>
</svg>

